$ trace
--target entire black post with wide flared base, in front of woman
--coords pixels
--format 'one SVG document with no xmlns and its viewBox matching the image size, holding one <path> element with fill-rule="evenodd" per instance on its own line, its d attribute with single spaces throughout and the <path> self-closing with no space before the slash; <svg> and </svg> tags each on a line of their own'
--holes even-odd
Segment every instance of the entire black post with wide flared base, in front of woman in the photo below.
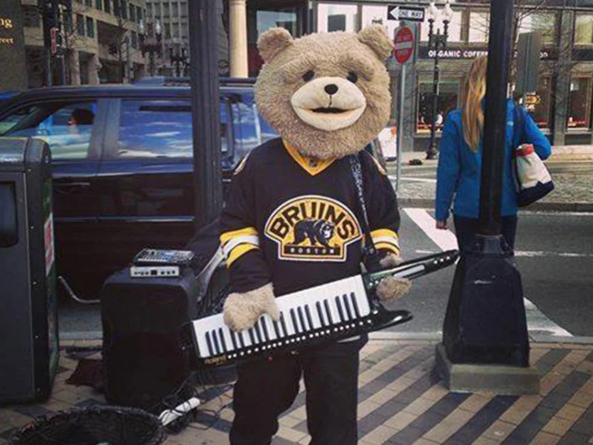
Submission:
<svg viewBox="0 0 593 445">
<path fill-rule="evenodd" d="M 501 234 L 513 3 L 514 0 L 490 0 L 479 228 L 473 243 L 460 246 L 463 254 L 453 278 L 443 325 L 444 349 L 442 345 L 437 348 L 441 368 L 445 353 L 452 363 L 496 363 L 520 368 L 528 368 L 530 363 L 523 285 L 513 262 L 513 250 Z M 479 369 L 474 371 L 479 374 L 482 372 Z M 493 380 L 494 374 L 479 374 L 472 385 L 482 382 L 500 391 L 507 391 L 509 385 L 515 388 L 523 385 L 532 391 L 536 373 L 528 372 L 527 378 L 522 374 L 513 377 L 513 372 L 505 374 L 505 379 L 499 382 Z M 466 377 L 464 384 L 469 381 Z M 523 377 L 526 379 L 521 380 Z M 449 385 L 454 388 L 451 382 L 450 379 Z M 468 386 L 463 388 L 469 391 Z"/>
</svg>

